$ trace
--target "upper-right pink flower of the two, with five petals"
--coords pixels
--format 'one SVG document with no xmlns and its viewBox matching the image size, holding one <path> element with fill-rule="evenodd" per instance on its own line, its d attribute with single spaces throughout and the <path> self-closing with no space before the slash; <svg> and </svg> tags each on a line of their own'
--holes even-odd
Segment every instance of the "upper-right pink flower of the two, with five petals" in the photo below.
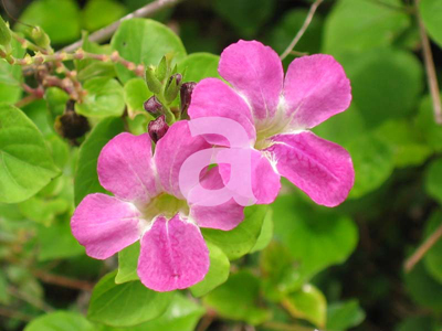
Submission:
<svg viewBox="0 0 442 331">
<path fill-rule="evenodd" d="M 240 41 L 222 52 L 218 71 L 232 87 L 217 78 L 201 81 L 188 114 L 191 119 L 231 118 L 248 131 L 257 203 L 273 202 L 281 175 L 318 204 L 341 203 L 355 179 L 350 156 L 309 129 L 350 105 L 350 84 L 343 67 L 330 55 L 303 56 L 291 63 L 284 78 L 271 47 Z M 220 137 L 204 138 L 227 146 Z"/>
</svg>

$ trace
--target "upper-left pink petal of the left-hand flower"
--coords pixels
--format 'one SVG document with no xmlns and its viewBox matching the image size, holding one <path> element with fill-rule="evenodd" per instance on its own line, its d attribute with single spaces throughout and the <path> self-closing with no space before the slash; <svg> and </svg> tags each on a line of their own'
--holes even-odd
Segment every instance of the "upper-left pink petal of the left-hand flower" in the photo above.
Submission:
<svg viewBox="0 0 442 331">
<path fill-rule="evenodd" d="M 154 167 L 149 136 L 124 132 L 99 153 L 99 183 L 123 200 L 146 203 L 159 193 Z"/>
</svg>

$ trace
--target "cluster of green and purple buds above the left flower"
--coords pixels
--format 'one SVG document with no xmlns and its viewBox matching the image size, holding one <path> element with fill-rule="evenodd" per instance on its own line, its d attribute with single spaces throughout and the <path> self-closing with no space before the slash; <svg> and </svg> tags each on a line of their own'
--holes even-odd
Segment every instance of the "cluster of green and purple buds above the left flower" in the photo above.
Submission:
<svg viewBox="0 0 442 331">
<path fill-rule="evenodd" d="M 152 141 L 157 142 L 166 135 L 169 125 L 187 117 L 187 108 L 196 83 L 183 83 L 181 74 L 177 72 L 177 65 L 171 66 L 172 56 L 165 55 L 159 65 L 148 66 L 146 70 L 146 84 L 154 93 L 144 103 L 144 108 L 156 119 L 149 122 L 148 132 Z M 172 107 L 173 102 L 180 95 L 180 107 Z"/>
</svg>

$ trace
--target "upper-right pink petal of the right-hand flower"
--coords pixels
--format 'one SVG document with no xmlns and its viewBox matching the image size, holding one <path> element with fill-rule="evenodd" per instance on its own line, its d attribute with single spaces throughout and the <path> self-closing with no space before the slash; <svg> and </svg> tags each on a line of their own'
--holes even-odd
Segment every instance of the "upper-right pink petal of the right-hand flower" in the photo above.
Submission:
<svg viewBox="0 0 442 331">
<path fill-rule="evenodd" d="M 284 82 L 287 115 L 293 129 L 307 129 L 344 111 L 351 102 L 351 87 L 343 66 L 330 55 L 295 58 Z"/>
</svg>

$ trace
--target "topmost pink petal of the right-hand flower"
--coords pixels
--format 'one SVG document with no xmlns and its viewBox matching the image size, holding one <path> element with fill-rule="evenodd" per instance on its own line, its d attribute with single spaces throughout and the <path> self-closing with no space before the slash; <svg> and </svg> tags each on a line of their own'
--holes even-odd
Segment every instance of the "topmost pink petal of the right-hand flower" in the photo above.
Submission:
<svg viewBox="0 0 442 331">
<path fill-rule="evenodd" d="M 218 71 L 249 100 L 256 119 L 274 116 L 284 78 L 275 51 L 256 41 L 241 40 L 222 52 Z"/>
</svg>

